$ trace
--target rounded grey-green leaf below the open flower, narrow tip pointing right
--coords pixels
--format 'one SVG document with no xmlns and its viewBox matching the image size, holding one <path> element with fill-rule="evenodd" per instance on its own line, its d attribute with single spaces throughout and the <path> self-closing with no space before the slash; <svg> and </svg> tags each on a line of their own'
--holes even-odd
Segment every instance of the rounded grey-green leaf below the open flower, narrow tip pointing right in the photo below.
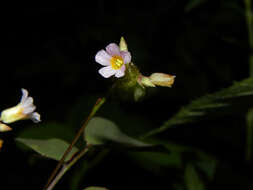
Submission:
<svg viewBox="0 0 253 190">
<path fill-rule="evenodd" d="M 130 147 L 148 147 L 150 145 L 138 141 L 124 134 L 112 121 L 94 117 L 87 125 L 84 138 L 88 144 L 104 145 L 104 144 L 120 144 Z"/>
</svg>

